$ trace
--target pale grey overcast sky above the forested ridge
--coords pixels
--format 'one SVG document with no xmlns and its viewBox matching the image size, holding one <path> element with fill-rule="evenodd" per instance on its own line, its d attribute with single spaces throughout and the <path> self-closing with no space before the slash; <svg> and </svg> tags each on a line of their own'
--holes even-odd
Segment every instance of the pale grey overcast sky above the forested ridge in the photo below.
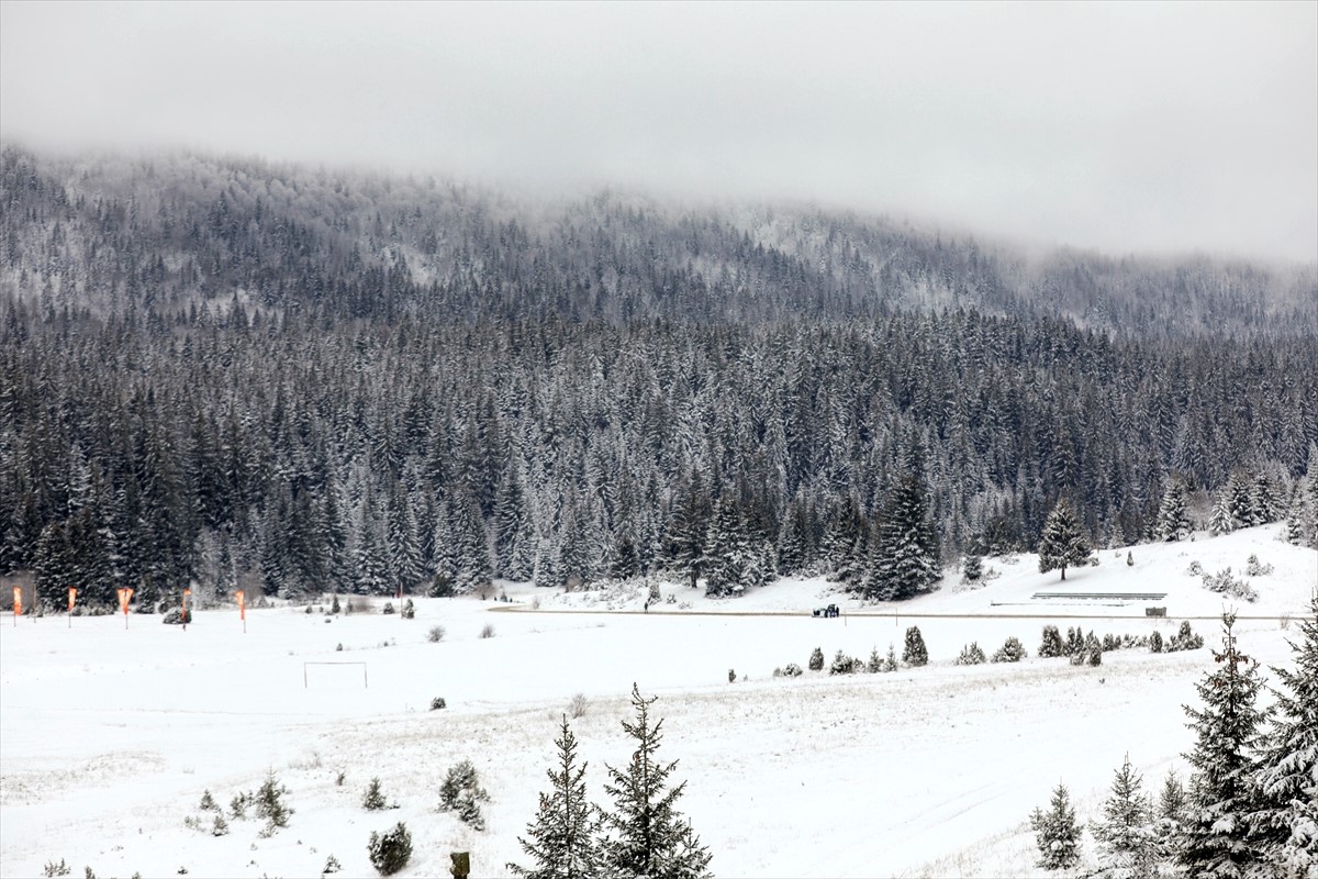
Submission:
<svg viewBox="0 0 1318 879">
<path fill-rule="evenodd" d="M 0 3 L 0 136 L 1318 260 L 1318 3 Z"/>
</svg>

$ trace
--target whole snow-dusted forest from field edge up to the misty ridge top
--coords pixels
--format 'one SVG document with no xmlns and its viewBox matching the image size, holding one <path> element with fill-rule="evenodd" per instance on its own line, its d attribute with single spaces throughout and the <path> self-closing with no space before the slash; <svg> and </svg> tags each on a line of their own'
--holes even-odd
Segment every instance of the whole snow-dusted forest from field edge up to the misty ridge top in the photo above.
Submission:
<svg viewBox="0 0 1318 879">
<path fill-rule="evenodd" d="M 1313 544 L 1315 326 L 1313 266 L 5 145 L 0 573 L 894 600 L 1061 499 L 1104 546 L 1186 493 Z"/>
</svg>

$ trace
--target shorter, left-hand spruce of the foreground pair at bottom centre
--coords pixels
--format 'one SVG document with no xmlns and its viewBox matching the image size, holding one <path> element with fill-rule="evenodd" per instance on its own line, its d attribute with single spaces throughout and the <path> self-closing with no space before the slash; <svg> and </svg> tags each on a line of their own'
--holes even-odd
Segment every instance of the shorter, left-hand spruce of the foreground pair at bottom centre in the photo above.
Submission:
<svg viewBox="0 0 1318 879">
<path fill-rule="evenodd" d="M 589 879 L 600 875 L 596 834 L 600 818 L 585 799 L 585 763 L 576 762 L 576 737 L 563 717 L 559 738 L 559 764 L 548 770 L 550 792 L 540 795 L 540 810 L 527 825 L 529 839 L 518 837 L 534 866 L 509 863 L 513 875 L 527 879 Z"/>
</svg>

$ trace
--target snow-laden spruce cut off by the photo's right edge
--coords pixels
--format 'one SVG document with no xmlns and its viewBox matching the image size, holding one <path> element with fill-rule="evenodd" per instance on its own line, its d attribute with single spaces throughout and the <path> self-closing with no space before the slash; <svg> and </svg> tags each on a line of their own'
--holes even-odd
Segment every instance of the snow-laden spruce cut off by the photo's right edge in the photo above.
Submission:
<svg viewBox="0 0 1318 879">
<path fill-rule="evenodd" d="M 1278 876 L 1318 876 L 1318 594 L 1292 642 L 1296 669 L 1273 668 L 1281 688 L 1260 742 L 1249 816 L 1252 839 Z"/>
</svg>

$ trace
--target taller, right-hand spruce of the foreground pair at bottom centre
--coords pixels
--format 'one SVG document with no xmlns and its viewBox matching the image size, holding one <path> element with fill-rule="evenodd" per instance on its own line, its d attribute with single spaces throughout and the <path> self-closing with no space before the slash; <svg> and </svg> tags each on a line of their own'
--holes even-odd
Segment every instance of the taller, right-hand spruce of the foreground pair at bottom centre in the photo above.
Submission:
<svg viewBox="0 0 1318 879">
<path fill-rule="evenodd" d="M 604 810 L 601 816 L 606 832 L 601 843 L 601 872 L 618 879 L 699 879 L 710 875 L 712 855 L 673 808 L 687 787 L 685 781 L 668 787 L 677 760 L 655 760 L 663 741 L 663 720 L 650 723 L 650 705 L 656 698 L 642 698 L 637 685 L 631 685 L 637 720 L 634 723 L 622 721 L 622 729 L 637 739 L 637 750 L 626 771 L 605 763 L 610 783 L 604 789 L 613 797 L 613 810 Z"/>
</svg>

